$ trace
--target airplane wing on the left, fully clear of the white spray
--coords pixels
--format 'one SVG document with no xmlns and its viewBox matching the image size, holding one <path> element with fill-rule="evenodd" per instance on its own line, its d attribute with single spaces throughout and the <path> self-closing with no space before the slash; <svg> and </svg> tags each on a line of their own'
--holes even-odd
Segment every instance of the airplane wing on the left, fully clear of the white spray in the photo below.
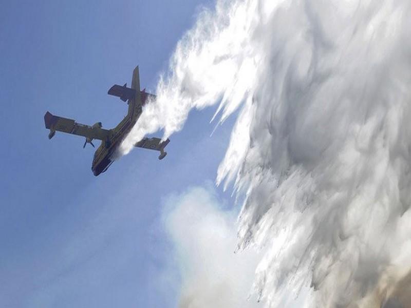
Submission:
<svg viewBox="0 0 411 308">
<path fill-rule="evenodd" d="M 48 111 L 44 115 L 44 123 L 46 124 L 46 128 L 50 129 L 49 139 L 54 136 L 55 131 L 84 136 L 88 140 L 106 140 L 110 134 L 109 130 L 101 128 L 101 123 L 96 123 L 93 126 L 84 125 L 72 119 L 58 117 Z"/>
</svg>

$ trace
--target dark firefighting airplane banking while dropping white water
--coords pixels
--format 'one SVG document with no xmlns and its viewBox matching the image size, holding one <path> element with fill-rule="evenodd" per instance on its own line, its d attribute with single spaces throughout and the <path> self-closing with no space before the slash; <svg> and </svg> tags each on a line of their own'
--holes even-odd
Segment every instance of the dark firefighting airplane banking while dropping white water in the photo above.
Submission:
<svg viewBox="0 0 411 308">
<path fill-rule="evenodd" d="M 142 106 L 148 101 L 156 99 L 156 95 L 145 92 L 145 89 L 140 91 L 138 66 L 133 71 L 131 88 L 127 88 L 127 84 L 124 84 L 123 86 L 114 85 L 108 90 L 108 94 L 119 97 L 120 100 L 127 102 L 128 104 L 127 115 L 115 128 L 112 129 L 102 128 L 101 122 L 97 122 L 92 126 L 80 124 L 72 119 L 53 115 L 49 111 L 44 115 L 46 128 L 50 129 L 48 139 L 53 138 L 56 131 L 83 136 L 86 138 L 83 148 L 85 148 L 87 143 L 92 147 L 95 147 L 92 141 L 95 139 L 101 140 L 101 144 L 94 153 L 94 158 L 91 164 L 91 170 L 96 177 L 105 172 L 114 162 L 121 142 L 139 119 L 142 113 Z M 137 142 L 135 146 L 160 151 L 158 159 L 161 160 L 167 155 L 164 148 L 169 142 L 169 139 L 161 141 L 160 138 L 143 138 L 141 141 Z"/>
</svg>

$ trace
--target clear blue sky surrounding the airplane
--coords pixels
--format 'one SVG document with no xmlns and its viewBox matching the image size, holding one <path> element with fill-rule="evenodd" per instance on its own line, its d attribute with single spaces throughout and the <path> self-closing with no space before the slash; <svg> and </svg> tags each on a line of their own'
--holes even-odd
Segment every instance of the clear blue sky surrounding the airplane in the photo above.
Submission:
<svg viewBox="0 0 411 308">
<path fill-rule="evenodd" d="M 164 200 L 209 185 L 230 122 L 210 133 L 214 112 L 193 112 L 169 155 L 134 150 L 98 178 L 94 149 L 57 133 L 44 113 L 114 127 L 126 105 L 107 95 L 130 83 L 156 87 L 175 44 L 212 1 L 13 1 L 0 11 L 0 306 L 176 305 L 178 279 L 162 231 Z M 159 133 L 161 135 L 161 133 Z M 229 195 L 216 189 L 218 198 Z"/>
</svg>

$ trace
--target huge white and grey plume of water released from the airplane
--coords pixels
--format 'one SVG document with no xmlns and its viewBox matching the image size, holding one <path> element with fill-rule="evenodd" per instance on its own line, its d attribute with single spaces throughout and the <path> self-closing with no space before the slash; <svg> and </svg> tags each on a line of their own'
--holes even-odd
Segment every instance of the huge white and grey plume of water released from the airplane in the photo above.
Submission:
<svg viewBox="0 0 411 308">
<path fill-rule="evenodd" d="M 240 108 L 217 184 L 246 200 L 238 249 L 269 247 L 255 293 L 278 306 L 409 306 L 411 3 L 236 0 L 177 44 L 158 100 L 122 144 Z"/>
</svg>

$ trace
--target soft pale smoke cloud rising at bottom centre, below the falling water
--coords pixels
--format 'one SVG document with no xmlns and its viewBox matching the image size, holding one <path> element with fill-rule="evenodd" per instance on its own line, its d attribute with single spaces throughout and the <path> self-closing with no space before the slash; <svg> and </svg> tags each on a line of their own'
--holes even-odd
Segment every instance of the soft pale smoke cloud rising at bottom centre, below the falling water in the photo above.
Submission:
<svg viewBox="0 0 411 308">
<path fill-rule="evenodd" d="M 235 220 L 209 189 L 192 188 L 167 202 L 164 224 L 181 275 L 179 307 L 259 306 L 247 300 L 259 258 L 251 250 L 234 254 Z"/>
</svg>

